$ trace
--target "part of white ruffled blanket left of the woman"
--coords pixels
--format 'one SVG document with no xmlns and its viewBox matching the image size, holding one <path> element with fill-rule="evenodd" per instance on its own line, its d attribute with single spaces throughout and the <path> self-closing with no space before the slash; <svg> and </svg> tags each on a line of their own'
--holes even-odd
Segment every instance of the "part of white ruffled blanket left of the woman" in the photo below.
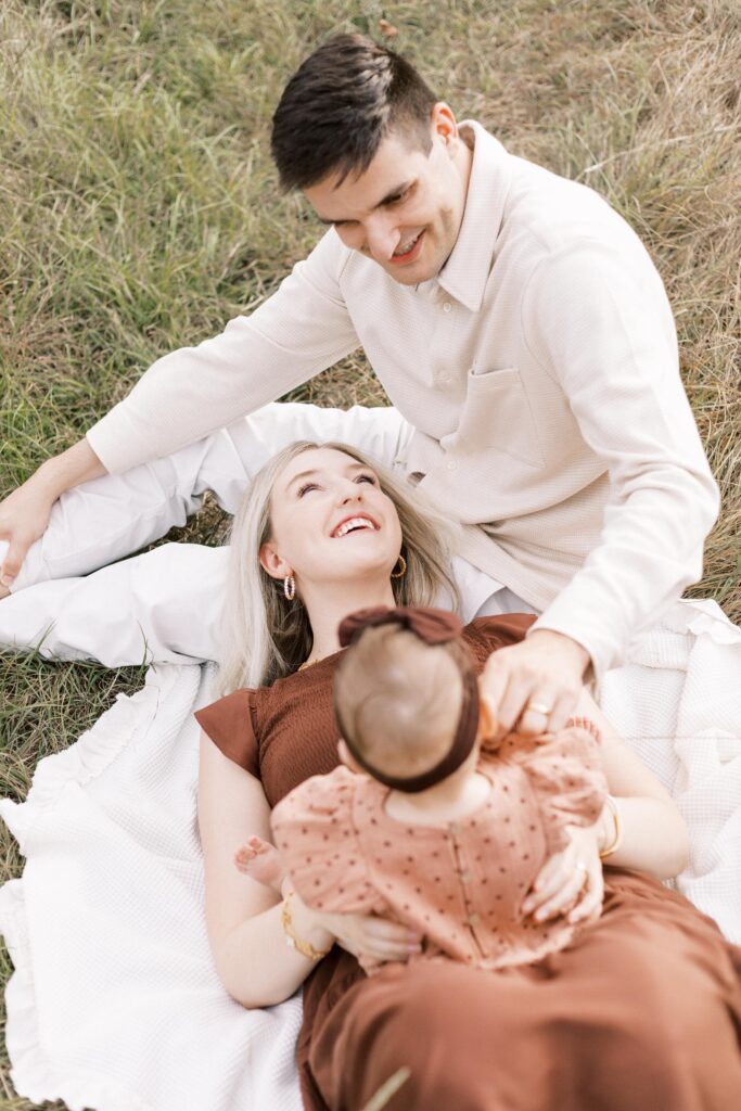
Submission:
<svg viewBox="0 0 741 1111">
<path fill-rule="evenodd" d="M 0 891 L 19 1093 L 72 1111 L 300 1111 L 300 997 L 247 1011 L 213 970 L 196 824 L 210 669 L 158 664 L 0 813 L 26 857 Z"/>
</svg>

